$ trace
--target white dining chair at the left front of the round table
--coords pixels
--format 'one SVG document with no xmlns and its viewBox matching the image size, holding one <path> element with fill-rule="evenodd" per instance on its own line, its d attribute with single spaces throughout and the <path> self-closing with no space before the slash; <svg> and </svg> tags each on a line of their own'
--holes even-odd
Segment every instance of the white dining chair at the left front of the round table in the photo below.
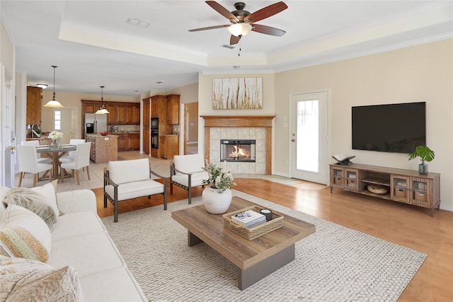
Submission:
<svg viewBox="0 0 453 302">
<path fill-rule="evenodd" d="M 49 171 L 50 179 L 52 179 L 53 165 L 50 163 L 38 163 L 38 153 L 35 146 L 18 145 L 16 146 L 18 161 L 19 161 L 19 187 L 22 185 L 24 173 L 33 173 L 33 187 L 38 182 L 39 173 Z"/>
</svg>

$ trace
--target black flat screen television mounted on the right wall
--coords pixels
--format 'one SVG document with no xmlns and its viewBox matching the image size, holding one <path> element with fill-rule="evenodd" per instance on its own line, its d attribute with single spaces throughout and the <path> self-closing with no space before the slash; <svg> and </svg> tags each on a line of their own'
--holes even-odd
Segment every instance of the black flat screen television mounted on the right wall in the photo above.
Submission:
<svg viewBox="0 0 453 302">
<path fill-rule="evenodd" d="M 426 145 L 426 103 L 352 107 L 352 149 L 411 153 Z"/>
</svg>

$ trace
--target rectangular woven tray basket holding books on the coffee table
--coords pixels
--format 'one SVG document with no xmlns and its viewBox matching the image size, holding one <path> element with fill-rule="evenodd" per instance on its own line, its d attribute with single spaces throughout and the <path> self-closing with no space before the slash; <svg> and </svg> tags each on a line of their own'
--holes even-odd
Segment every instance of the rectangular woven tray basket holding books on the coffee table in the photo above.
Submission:
<svg viewBox="0 0 453 302">
<path fill-rule="evenodd" d="M 253 240 L 255 238 L 263 236 L 266 233 L 275 231 L 277 228 L 281 228 L 283 226 L 282 214 L 276 213 L 275 211 L 272 211 L 272 220 L 265 223 L 261 223 L 258 226 L 253 226 L 253 228 L 246 228 L 245 226 L 241 226 L 238 223 L 235 223 L 234 221 L 231 220 L 231 216 L 239 214 L 243 211 L 253 210 L 259 213 L 261 209 L 265 208 L 253 206 L 241 209 L 239 211 L 224 214 L 223 216 L 224 226 L 225 228 L 228 228 L 229 230 L 238 233 L 240 236 L 248 240 Z"/>
</svg>

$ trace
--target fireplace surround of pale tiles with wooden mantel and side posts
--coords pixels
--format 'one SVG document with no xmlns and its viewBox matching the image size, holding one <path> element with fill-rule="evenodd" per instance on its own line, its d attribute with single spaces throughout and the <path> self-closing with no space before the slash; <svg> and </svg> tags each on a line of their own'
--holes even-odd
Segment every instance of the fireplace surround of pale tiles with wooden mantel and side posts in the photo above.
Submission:
<svg viewBox="0 0 453 302">
<path fill-rule="evenodd" d="M 255 139 L 255 163 L 226 163 L 231 173 L 272 174 L 272 120 L 275 115 L 201 115 L 205 119 L 205 154 L 220 161 L 220 139 Z"/>
</svg>

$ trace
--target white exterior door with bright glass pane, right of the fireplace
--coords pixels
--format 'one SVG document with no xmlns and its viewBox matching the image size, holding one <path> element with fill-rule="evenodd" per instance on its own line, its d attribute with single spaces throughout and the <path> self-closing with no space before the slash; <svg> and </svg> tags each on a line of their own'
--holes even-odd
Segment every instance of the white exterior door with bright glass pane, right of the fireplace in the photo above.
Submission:
<svg viewBox="0 0 453 302">
<path fill-rule="evenodd" d="M 327 184 L 328 92 L 291 95 L 291 177 Z"/>
</svg>

